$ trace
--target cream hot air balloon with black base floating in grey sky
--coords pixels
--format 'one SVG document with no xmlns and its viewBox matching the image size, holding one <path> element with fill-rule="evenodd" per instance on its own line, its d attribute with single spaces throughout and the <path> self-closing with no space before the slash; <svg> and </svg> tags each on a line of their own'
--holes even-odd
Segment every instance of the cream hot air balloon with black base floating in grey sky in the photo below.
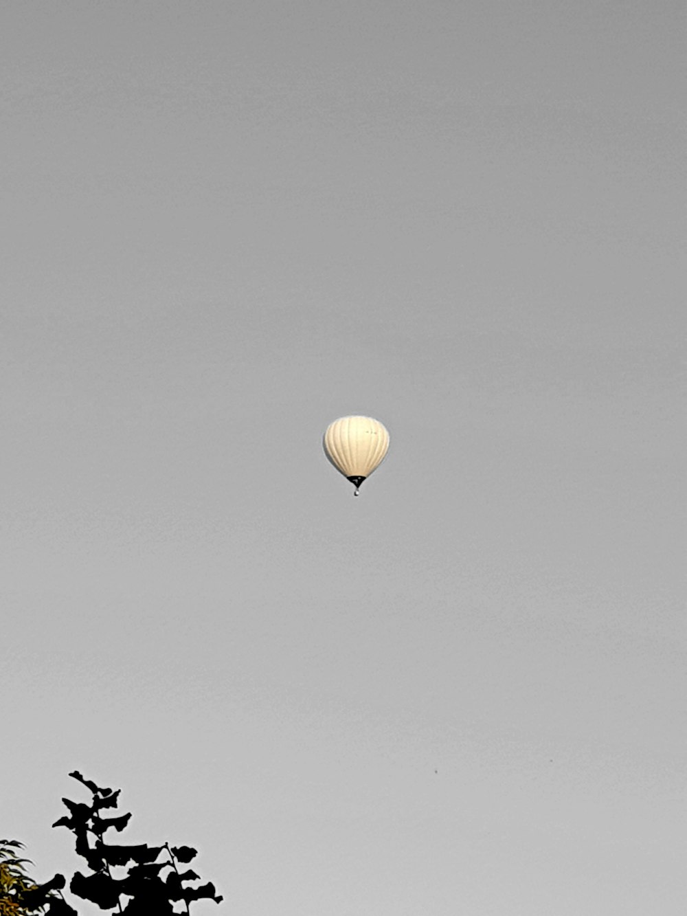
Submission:
<svg viewBox="0 0 687 916">
<path fill-rule="evenodd" d="M 337 471 L 355 487 L 360 485 L 385 458 L 389 435 L 379 420 L 372 417 L 341 417 L 324 433 L 324 453 Z"/>
</svg>

